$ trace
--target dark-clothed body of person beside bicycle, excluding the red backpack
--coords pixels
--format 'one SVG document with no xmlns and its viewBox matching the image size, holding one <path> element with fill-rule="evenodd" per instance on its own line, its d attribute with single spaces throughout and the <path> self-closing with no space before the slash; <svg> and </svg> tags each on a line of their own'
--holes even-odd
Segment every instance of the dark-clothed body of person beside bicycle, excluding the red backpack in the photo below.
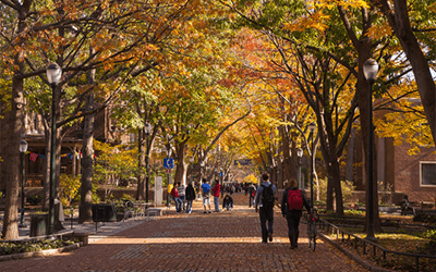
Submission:
<svg viewBox="0 0 436 272">
<path fill-rule="evenodd" d="M 289 183 L 290 187 L 288 187 L 283 191 L 283 197 L 281 198 L 281 213 L 283 217 L 286 217 L 288 221 L 288 236 L 289 236 L 289 242 L 291 243 L 291 249 L 294 249 L 298 247 L 298 240 L 299 240 L 299 225 L 300 225 L 300 219 L 302 215 L 302 210 L 289 210 L 289 203 L 288 203 L 288 194 L 290 190 L 298 190 L 299 185 L 294 178 L 291 178 Z M 308 212 L 312 213 L 311 206 L 307 202 L 306 197 L 304 196 L 303 193 L 301 193 L 301 196 L 303 198 L 303 206 L 306 208 Z"/>
</svg>

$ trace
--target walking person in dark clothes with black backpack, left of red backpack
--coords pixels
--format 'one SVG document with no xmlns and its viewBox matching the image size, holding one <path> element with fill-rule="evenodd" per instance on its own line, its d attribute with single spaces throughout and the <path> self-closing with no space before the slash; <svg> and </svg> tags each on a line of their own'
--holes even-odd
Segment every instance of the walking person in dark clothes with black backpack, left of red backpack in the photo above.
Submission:
<svg viewBox="0 0 436 272">
<path fill-rule="evenodd" d="M 262 243 L 272 242 L 274 233 L 274 205 L 276 186 L 269 182 L 269 174 L 262 174 L 262 185 L 257 188 L 255 197 L 255 210 L 259 213 Z M 268 227 L 266 222 L 268 221 Z"/>
</svg>

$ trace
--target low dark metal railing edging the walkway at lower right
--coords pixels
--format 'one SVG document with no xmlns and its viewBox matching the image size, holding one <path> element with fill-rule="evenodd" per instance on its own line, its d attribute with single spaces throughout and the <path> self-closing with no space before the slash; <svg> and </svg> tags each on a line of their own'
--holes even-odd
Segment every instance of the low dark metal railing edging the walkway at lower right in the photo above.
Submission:
<svg viewBox="0 0 436 272">
<path fill-rule="evenodd" d="M 316 220 L 316 222 L 318 224 L 318 228 L 325 230 L 325 227 L 327 227 L 327 232 L 329 232 L 329 227 L 331 227 L 332 231 L 336 230 L 337 239 L 341 240 L 341 243 L 344 242 L 344 234 L 348 235 L 348 239 L 350 239 L 350 237 L 353 237 L 354 238 L 354 249 L 358 250 L 358 247 L 360 245 L 362 245 L 362 254 L 363 255 L 366 255 L 366 247 L 367 246 L 370 246 L 370 247 L 372 246 L 373 247 L 373 256 L 374 257 L 376 256 L 377 249 L 378 249 L 379 251 L 383 252 L 383 260 L 384 261 L 386 260 L 386 255 L 387 254 L 412 257 L 412 258 L 415 258 L 415 269 L 416 269 L 416 271 L 420 271 L 420 259 L 423 259 L 423 258 L 436 259 L 436 256 L 433 256 L 433 255 L 410 254 L 410 252 L 400 252 L 400 251 L 390 250 L 390 249 L 384 248 L 383 246 L 380 246 L 380 245 L 378 245 L 376 243 L 373 243 L 373 242 L 363 239 L 363 238 L 361 238 L 359 236 L 355 236 L 351 232 L 347 232 L 347 231 L 344 231 L 344 230 L 336 226 L 335 224 L 332 224 L 330 222 L 327 222 L 327 221 L 325 221 L 323 219 L 318 218 Z M 339 239 L 339 234 L 340 233 L 342 235 L 342 239 Z M 332 234 L 335 234 L 335 232 L 332 232 Z M 378 260 L 376 260 L 376 261 L 378 261 Z"/>
</svg>

